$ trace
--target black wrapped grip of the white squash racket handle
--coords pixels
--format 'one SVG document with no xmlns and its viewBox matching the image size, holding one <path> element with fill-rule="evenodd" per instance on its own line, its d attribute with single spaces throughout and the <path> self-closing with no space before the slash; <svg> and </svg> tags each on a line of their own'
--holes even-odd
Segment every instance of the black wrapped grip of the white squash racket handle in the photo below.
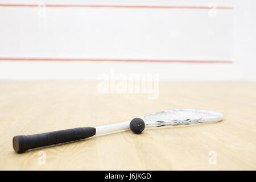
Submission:
<svg viewBox="0 0 256 182">
<path fill-rule="evenodd" d="M 23 153 L 31 148 L 72 142 L 92 137 L 95 134 L 96 129 L 94 127 L 77 127 L 75 129 L 52 131 L 35 135 L 19 135 L 13 138 L 13 148 L 17 153 Z"/>
</svg>

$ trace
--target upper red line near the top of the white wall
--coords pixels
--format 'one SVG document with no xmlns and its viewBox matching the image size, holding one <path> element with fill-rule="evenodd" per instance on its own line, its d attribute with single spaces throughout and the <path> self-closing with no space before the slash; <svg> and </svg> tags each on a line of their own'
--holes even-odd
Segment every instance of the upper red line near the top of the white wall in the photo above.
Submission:
<svg viewBox="0 0 256 182">
<path fill-rule="evenodd" d="M 6 7 L 38 7 L 43 4 L 0 4 Z M 119 8 L 151 8 L 151 9 L 213 9 L 208 6 L 150 6 L 150 5 L 44 5 L 46 7 L 119 7 Z M 216 9 L 232 10 L 229 6 L 216 6 Z"/>
</svg>

